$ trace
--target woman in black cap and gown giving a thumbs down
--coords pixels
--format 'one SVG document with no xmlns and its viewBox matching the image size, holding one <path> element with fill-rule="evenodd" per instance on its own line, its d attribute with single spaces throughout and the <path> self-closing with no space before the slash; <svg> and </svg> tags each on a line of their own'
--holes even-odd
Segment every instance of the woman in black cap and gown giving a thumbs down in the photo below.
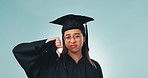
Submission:
<svg viewBox="0 0 148 78">
<path fill-rule="evenodd" d="M 50 23 L 62 25 L 59 37 L 22 43 L 13 53 L 28 78 L 103 78 L 98 62 L 90 59 L 87 27 L 93 18 L 69 14 Z M 63 48 L 61 54 L 58 48 Z"/>
</svg>

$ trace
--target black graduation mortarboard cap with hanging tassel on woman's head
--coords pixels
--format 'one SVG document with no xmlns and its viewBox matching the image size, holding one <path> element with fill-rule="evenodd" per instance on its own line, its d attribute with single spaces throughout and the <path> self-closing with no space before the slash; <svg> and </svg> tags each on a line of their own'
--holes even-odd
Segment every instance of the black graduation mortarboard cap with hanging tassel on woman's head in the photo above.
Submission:
<svg viewBox="0 0 148 78">
<path fill-rule="evenodd" d="M 93 18 L 87 16 L 68 14 L 60 18 L 57 18 L 56 20 L 51 21 L 50 23 L 62 25 L 62 34 L 64 34 L 66 30 L 80 29 L 82 34 L 86 37 L 86 45 L 88 48 L 88 30 L 86 23 L 93 20 Z M 85 24 L 85 28 L 83 24 Z"/>
</svg>

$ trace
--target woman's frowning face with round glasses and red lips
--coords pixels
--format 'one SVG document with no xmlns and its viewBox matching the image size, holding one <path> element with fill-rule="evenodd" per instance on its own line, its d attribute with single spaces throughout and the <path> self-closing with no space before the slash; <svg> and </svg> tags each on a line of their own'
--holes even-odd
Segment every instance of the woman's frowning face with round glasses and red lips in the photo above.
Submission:
<svg viewBox="0 0 148 78">
<path fill-rule="evenodd" d="M 79 29 L 71 29 L 64 32 L 65 46 L 68 52 L 76 53 L 82 51 L 85 38 Z"/>
</svg>

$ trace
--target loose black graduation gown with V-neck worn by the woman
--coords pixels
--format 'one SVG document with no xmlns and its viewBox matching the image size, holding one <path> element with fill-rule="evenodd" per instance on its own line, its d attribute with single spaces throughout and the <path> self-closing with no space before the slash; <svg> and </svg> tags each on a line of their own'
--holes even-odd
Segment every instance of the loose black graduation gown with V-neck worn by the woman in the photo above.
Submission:
<svg viewBox="0 0 148 78">
<path fill-rule="evenodd" d="M 28 78 L 103 78 L 100 65 L 93 60 L 93 67 L 86 57 L 76 64 L 67 55 L 58 58 L 54 41 L 46 40 L 22 43 L 13 49 L 13 53 L 25 70 Z"/>
</svg>

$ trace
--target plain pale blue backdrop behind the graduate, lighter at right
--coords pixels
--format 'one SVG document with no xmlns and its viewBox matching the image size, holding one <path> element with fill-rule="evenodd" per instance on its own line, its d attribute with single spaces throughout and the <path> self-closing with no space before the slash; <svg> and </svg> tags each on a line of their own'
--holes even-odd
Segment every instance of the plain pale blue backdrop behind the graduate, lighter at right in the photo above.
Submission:
<svg viewBox="0 0 148 78">
<path fill-rule="evenodd" d="M 104 78 L 148 78 L 147 0 L 0 0 L 0 78 L 27 78 L 12 54 L 19 43 L 61 37 L 49 21 L 88 15 L 90 55 Z"/>
</svg>

